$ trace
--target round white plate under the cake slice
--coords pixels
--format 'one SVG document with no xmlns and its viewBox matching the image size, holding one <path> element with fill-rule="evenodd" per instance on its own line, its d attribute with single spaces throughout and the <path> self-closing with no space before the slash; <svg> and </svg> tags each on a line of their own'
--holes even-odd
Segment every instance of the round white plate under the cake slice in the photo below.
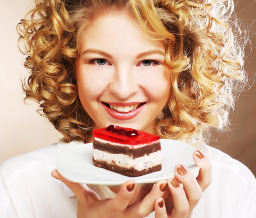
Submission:
<svg viewBox="0 0 256 218">
<path fill-rule="evenodd" d="M 81 143 L 64 150 L 56 160 L 56 169 L 66 179 L 76 183 L 115 186 L 125 181 L 134 180 L 139 185 L 155 183 L 174 176 L 174 167 L 182 164 L 198 175 L 199 167 L 193 161 L 195 148 L 186 143 L 160 139 L 162 146 L 162 170 L 144 176 L 124 176 L 92 163 L 92 143 Z"/>
</svg>

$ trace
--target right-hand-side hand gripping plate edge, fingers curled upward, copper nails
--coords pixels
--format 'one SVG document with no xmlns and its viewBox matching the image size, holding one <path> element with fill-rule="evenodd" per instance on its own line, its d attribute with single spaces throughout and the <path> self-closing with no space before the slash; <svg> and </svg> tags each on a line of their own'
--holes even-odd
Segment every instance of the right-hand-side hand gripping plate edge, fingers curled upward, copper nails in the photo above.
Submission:
<svg viewBox="0 0 256 218">
<path fill-rule="evenodd" d="M 197 178 L 184 166 L 175 167 L 175 177 L 168 180 L 171 198 L 155 201 L 155 218 L 189 218 L 198 204 L 202 192 L 211 183 L 211 164 L 199 151 L 193 153 L 195 164 L 200 167 Z M 182 185 L 180 184 L 182 183 Z M 165 199 L 165 200 L 164 200 Z"/>
</svg>

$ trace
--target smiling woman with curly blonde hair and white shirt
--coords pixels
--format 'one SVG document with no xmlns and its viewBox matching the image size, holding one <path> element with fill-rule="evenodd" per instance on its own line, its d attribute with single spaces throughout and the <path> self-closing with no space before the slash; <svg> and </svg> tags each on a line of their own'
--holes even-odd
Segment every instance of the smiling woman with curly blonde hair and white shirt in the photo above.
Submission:
<svg viewBox="0 0 256 218">
<path fill-rule="evenodd" d="M 18 26 L 31 70 L 24 89 L 64 142 L 2 164 L 3 216 L 255 216 L 254 176 L 202 143 L 209 128 L 227 125 L 231 93 L 245 77 L 227 21 L 232 5 L 37 2 Z M 60 150 L 92 142 L 92 129 L 110 124 L 198 146 L 199 176 L 179 165 L 154 187 L 127 181 L 114 189 L 72 183 L 53 170 Z"/>
</svg>

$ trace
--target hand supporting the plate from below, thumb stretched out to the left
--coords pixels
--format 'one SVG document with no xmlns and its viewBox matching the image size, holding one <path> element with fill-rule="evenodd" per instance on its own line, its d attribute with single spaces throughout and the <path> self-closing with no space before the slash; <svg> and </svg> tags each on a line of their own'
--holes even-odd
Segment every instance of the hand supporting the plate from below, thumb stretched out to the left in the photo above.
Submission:
<svg viewBox="0 0 256 218">
<path fill-rule="evenodd" d="M 75 194 L 78 201 L 77 218 L 143 218 L 154 210 L 158 198 L 169 193 L 167 181 L 159 181 L 154 187 L 137 188 L 134 181 L 126 181 L 114 198 L 101 200 L 97 193 L 68 181 L 57 170 L 52 171 L 52 176 L 65 183 Z"/>
</svg>

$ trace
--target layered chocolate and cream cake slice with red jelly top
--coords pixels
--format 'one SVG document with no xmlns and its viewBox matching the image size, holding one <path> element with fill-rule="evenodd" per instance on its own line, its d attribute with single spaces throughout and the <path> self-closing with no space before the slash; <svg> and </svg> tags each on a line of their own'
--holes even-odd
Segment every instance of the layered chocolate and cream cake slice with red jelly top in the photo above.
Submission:
<svg viewBox="0 0 256 218">
<path fill-rule="evenodd" d="M 135 177 L 162 168 L 159 137 L 131 128 L 110 125 L 93 130 L 93 163 L 97 167 Z"/>
</svg>

